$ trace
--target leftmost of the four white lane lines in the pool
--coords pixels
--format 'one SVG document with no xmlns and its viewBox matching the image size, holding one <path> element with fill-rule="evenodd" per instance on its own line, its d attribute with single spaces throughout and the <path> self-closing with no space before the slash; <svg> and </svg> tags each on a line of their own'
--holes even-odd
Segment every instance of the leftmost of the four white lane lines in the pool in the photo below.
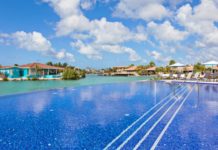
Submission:
<svg viewBox="0 0 218 150">
<path fill-rule="evenodd" d="M 180 86 L 179 84 L 178 86 Z M 186 87 L 181 87 L 179 90 L 182 91 Z M 181 90 L 182 89 L 182 90 Z M 178 92 L 178 91 L 177 91 Z M 169 96 L 174 95 L 175 92 L 171 92 L 169 95 L 167 95 L 165 98 L 160 100 L 156 105 L 154 105 L 151 109 L 149 109 L 147 112 L 145 112 L 141 117 L 139 117 L 136 121 L 134 121 L 131 125 L 129 125 L 125 130 L 123 130 L 117 137 L 115 137 L 103 150 L 107 150 L 113 143 L 115 143 L 122 135 L 124 135 L 130 128 L 132 128 L 137 122 L 139 122 L 143 117 L 145 117 L 148 113 L 150 113 L 153 109 L 155 109 L 158 105 L 160 105 L 165 99 L 167 99 Z"/>
</svg>

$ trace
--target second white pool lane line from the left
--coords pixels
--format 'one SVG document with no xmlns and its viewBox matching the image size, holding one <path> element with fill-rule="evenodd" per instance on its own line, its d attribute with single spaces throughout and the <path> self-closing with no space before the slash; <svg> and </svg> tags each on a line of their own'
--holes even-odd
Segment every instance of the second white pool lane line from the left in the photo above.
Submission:
<svg viewBox="0 0 218 150">
<path fill-rule="evenodd" d="M 181 91 L 180 91 L 181 92 Z M 180 93 L 178 92 L 178 93 Z M 177 93 L 177 94 L 178 94 Z M 184 92 L 185 93 L 185 92 Z M 140 131 L 162 108 L 164 108 L 169 102 L 171 102 L 171 100 L 175 98 L 175 96 L 171 97 L 169 100 L 167 100 L 164 105 L 162 105 L 158 110 L 156 110 L 149 118 L 147 118 L 125 141 L 123 141 L 123 143 L 121 143 L 121 145 L 117 148 L 117 150 L 120 150 L 121 148 L 123 148 L 128 142 L 129 140 L 131 140 L 137 133 L 138 131 Z"/>
</svg>

